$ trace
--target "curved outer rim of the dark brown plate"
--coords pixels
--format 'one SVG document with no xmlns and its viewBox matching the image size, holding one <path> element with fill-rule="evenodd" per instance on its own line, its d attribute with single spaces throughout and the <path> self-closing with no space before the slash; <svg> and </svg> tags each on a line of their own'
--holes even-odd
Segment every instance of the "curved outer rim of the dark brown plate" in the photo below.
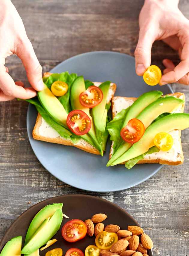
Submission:
<svg viewBox="0 0 189 256">
<path fill-rule="evenodd" d="M 116 207 L 117 209 L 119 209 L 120 211 L 122 211 L 125 215 L 127 215 L 127 217 L 131 218 L 138 226 L 140 226 L 139 223 L 134 219 L 134 217 L 131 216 L 125 209 L 123 209 L 123 208 L 121 208 L 119 205 L 117 205 L 117 204 L 115 204 L 115 203 L 112 203 L 112 202 L 110 202 L 110 201 L 108 201 L 108 200 L 106 200 L 106 199 L 104 199 L 104 198 L 99 197 L 99 196 L 86 195 L 86 194 L 71 194 L 71 195 L 66 194 L 66 195 L 58 195 L 58 196 L 55 196 L 55 197 L 46 198 L 46 199 L 44 199 L 44 200 L 38 202 L 37 204 L 32 205 L 30 208 L 28 208 L 26 211 L 24 211 L 22 214 L 20 214 L 20 215 L 13 221 L 13 223 L 8 227 L 8 229 L 6 230 L 6 232 L 4 233 L 4 236 L 2 237 L 2 239 L 1 239 L 1 241 L 0 241 L 0 247 L 2 246 L 2 248 L 3 248 L 3 247 L 4 247 L 3 245 L 5 245 L 5 244 L 8 242 L 8 241 L 5 241 L 5 242 L 4 242 L 6 234 L 8 233 L 9 229 L 11 229 L 11 228 L 15 225 L 15 223 L 16 223 L 17 221 L 19 221 L 20 218 L 22 218 L 22 216 L 24 216 L 25 214 L 28 214 L 28 212 L 32 211 L 33 208 L 37 207 L 37 206 L 40 205 L 40 204 L 43 204 L 43 203 L 45 203 L 45 202 L 48 202 L 49 200 L 52 200 L 52 199 L 64 198 L 64 197 L 67 197 L 67 196 L 68 196 L 68 197 L 77 197 L 77 196 L 80 196 L 80 197 L 82 197 L 82 198 L 86 198 L 86 197 L 87 197 L 87 198 L 95 198 L 96 200 L 103 201 L 103 202 L 106 202 L 106 203 L 108 203 L 108 204 L 111 204 L 111 205 L 113 205 L 114 207 Z M 52 203 L 51 203 L 51 204 L 52 204 Z M 64 202 L 63 202 L 63 206 L 64 206 Z M 152 249 L 151 249 L 150 251 L 151 251 L 152 256 L 153 256 L 153 251 L 152 251 Z"/>
</svg>

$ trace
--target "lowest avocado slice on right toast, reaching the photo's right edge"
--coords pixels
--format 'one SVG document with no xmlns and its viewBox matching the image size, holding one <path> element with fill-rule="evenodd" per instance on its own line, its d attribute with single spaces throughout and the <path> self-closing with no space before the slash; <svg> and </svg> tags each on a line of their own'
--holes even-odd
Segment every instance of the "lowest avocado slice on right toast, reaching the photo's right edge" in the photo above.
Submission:
<svg viewBox="0 0 189 256">
<path fill-rule="evenodd" d="M 154 146 L 154 137 L 157 133 L 169 133 L 172 130 L 184 130 L 189 127 L 189 114 L 177 113 L 162 117 L 158 121 L 152 123 L 145 131 L 143 137 L 134 143 L 128 151 L 121 157 L 116 159 L 111 166 L 121 164 L 132 158 L 146 153 L 149 148 Z"/>
</svg>

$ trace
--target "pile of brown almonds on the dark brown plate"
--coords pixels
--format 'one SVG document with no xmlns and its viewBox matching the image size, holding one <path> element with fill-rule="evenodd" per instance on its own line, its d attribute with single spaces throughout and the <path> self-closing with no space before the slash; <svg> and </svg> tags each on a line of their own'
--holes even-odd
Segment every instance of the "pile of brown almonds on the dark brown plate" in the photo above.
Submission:
<svg viewBox="0 0 189 256">
<path fill-rule="evenodd" d="M 97 236 L 102 231 L 116 233 L 118 236 L 119 240 L 112 245 L 110 250 L 101 250 L 100 256 L 148 256 L 148 250 L 152 249 L 154 245 L 141 227 L 128 226 L 127 230 L 120 230 L 120 227 L 114 224 L 104 227 L 101 222 L 106 218 L 106 214 L 99 213 L 93 215 L 91 219 L 85 220 L 89 236 L 94 234 Z"/>
</svg>

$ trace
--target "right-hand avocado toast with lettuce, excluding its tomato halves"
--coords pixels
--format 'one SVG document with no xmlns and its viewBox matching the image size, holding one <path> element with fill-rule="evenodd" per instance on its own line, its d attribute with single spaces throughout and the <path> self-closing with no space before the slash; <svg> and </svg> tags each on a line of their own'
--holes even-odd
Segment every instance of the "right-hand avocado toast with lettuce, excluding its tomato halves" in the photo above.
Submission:
<svg viewBox="0 0 189 256">
<path fill-rule="evenodd" d="M 141 95 L 138 100 L 136 100 L 137 98 L 127 97 L 113 97 L 112 99 L 113 118 L 116 118 L 107 126 L 111 139 L 113 140 L 110 150 L 110 160 L 107 166 L 125 164 L 125 166 L 130 169 L 136 163 L 182 164 L 183 153 L 180 130 L 188 127 L 188 114 L 182 114 L 184 111 L 184 94 L 177 92 L 162 95 L 161 92 L 153 91 Z M 132 105 L 134 108 L 130 107 Z M 138 118 L 143 122 L 146 129 L 143 137 L 134 144 L 123 142 L 120 136 L 117 136 L 118 138 L 115 136 L 116 130 L 114 126 L 116 122 L 121 120 L 121 114 L 124 114 L 124 111 L 126 111 L 124 109 L 127 108 L 130 109 L 130 112 L 125 113 L 125 123 L 127 124 L 128 120 L 131 118 Z M 183 127 L 179 127 L 180 122 L 185 123 Z M 123 124 L 123 126 L 126 124 Z M 166 127 L 164 125 L 166 125 Z M 174 127 L 175 125 L 178 126 L 179 130 L 175 130 L 177 129 Z M 155 131 L 153 136 L 158 132 L 168 132 L 173 137 L 173 146 L 169 151 L 158 150 L 158 148 L 154 147 L 152 142 L 152 145 L 148 144 L 148 140 L 150 140 L 150 136 L 153 134 L 153 129 Z M 117 140 L 117 145 L 114 144 L 114 138 Z M 149 147 L 145 149 L 146 144 L 148 144 Z"/>
</svg>

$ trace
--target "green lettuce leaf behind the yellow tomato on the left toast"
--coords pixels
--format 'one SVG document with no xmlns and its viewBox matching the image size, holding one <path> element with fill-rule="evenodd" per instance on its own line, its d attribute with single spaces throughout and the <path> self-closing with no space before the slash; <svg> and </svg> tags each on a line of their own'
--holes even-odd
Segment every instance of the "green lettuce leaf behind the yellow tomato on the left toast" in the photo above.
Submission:
<svg viewBox="0 0 189 256">
<path fill-rule="evenodd" d="M 72 111 L 71 108 L 71 104 L 70 104 L 70 87 L 73 83 L 73 81 L 76 79 L 77 74 L 72 73 L 69 74 L 68 72 L 63 72 L 63 73 L 54 73 L 52 75 L 50 75 L 47 79 L 44 79 L 44 83 L 46 84 L 46 86 L 50 89 L 52 83 L 54 83 L 55 81 L 62 81 L 67 83 L 68 85 L 68 90 L 66 92 L 66 94 L 64 94 L 63 96 L 57 97 L 58 100 L 61 102 L 61 104 L 64 106 L 65 111 L 67 113 L 69 113 L 70 111 Z"/>
</svg>

